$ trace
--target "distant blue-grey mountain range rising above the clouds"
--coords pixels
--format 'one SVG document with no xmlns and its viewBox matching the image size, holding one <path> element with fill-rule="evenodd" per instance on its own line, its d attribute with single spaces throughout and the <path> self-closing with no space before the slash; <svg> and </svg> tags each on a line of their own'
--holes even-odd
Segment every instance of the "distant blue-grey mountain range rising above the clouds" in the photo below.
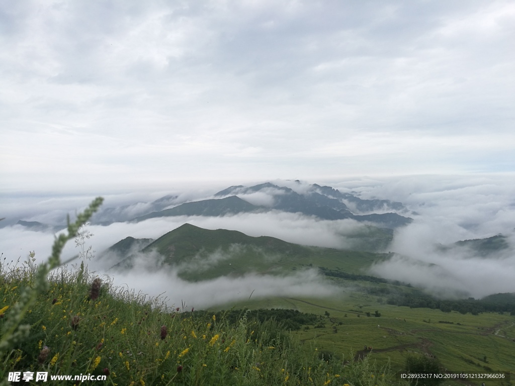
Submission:
<svg viewBox="0 0 515 386">
<path fill-rule="evenodd" d="M 268 205 L 256 205 L 246 201 L 245 198 L 256 193 L 262 193 L 271 198 Z M 241 197 L 240 197 L 241 196 Z M 317 184 L 299 194 L 293 189 L 278 186 L 269 182 L 245 187 L 231 186 L 217 192 L 214 197 L 218 199 L 187 202 L 173 208 L 152 212 L 136 217 L 135 221 L 166 216 L 225 216 L 238 213 L 260 213 L 269 210 L 280 210 L 289 213 L 302 213 L 306 216 L 316 216 L 323 220 L 353 219 L 368 221 L 387 228 L 396 228 L 409 224 L 413 219 L 394 213 L 394 210 L 407 212 L 400 202 L 389 200 L 363 200 L 350 193 L 342 193 L 330 186 Z M 243 197 L 243 198 L 242 198 Z M 352 210 L 351 210 L 352 209 Z M 367 213 L 373 211 L 388 213 Z"/>
</svg>

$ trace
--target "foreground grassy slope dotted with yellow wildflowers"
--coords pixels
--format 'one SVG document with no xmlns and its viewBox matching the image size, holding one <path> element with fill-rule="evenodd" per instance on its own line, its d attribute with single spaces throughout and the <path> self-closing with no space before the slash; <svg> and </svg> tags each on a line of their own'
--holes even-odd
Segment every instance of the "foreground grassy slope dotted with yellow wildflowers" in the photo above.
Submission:
<svg viewBox="0 0 515 386">
<path fill-rule="evenodd" d="M 35 270 L 0 266 L 0 327 L 14 317 L 9 311 L 23 289 L 35 285 Z M 50 275 L 48 289 L 23 318 L 29 336 L 0 357 L 0 379 L 10 371 L 46 371 L 109 374 L 113 385 L 393 384 L 387 370 L 368 360 L 345 366 L 341 356 L 322 360 L 320 348 L 273 321 L 247 320 L 245 313 L 235 324 L 196 317 L 114 288 L 107 277 L 96 299 L 92 291 L 87 271 L 61 268 Z"/>
</svg>

